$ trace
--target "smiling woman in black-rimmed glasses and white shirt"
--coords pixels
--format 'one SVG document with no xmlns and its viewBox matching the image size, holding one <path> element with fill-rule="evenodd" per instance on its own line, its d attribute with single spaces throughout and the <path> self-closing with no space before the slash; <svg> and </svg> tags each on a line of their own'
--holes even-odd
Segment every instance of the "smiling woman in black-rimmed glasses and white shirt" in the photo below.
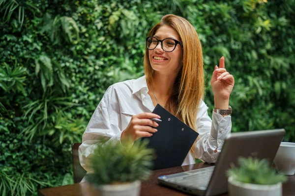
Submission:
<svg viewBox="0 0 295 196">
<path fill-rule="evenodd" d="M 211 86 L 214 94 L 212 121 L 203 101 L 204 73 L 202 47 L 194 27 L 185 19 L 166 15 L 149 32 L 144 57 L 145 76 L 110 86 L 83 134 L 79 148 L 82 167 L 89 170 L 93 145 L 101 137 L 121 142 L 150 137 L 158 124 L 150 118 L 157 104 L 199 133 L 182 165 L 195 158 L 215 162 L 225 137 L 231 132 L 229 98 L 234 77 L 224 68 L 224 57 L 215 66 Z M 121 112 L 137 114 L 132 118 Z M 221 115 L 222 114 L 222 115 Z"/>
</svg>

